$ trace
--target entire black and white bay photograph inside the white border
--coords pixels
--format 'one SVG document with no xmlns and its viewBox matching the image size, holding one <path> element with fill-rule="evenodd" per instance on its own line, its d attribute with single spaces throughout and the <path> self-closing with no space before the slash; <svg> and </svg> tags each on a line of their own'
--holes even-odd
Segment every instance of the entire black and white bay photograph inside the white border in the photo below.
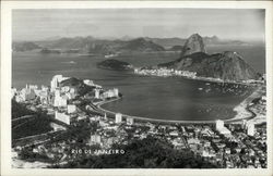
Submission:
<svg viewBox="0 0 273 176">
<path fill-rule="evenodd" d="M 265 14 L 12 9 L 11 168 L 269 168 Z"/>
</svg>

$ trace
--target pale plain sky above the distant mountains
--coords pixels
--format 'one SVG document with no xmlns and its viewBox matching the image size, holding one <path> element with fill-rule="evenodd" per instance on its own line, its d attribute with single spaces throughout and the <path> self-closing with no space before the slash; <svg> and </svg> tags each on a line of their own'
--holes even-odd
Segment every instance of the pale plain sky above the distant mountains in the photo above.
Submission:
<svg viewBox="0 0 273 176">
<path fill-rule="evenodd" d="M 13 40 L 55 37 L 187 38 L 264 40 L 264 10 L 259 9 L 38 9 L 13 10 Z"/>
</svg>

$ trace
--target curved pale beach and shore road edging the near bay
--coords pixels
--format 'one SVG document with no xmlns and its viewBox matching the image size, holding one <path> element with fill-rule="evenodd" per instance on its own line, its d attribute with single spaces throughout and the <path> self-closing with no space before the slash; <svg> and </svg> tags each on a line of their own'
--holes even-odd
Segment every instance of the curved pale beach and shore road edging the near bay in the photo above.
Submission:
<svg viewBox="0 0 273 176">
<path fill-rule="evenodd" d="M 234 111 L 237 112 L 235 117 L 228 118 L 228 120 L 223 120 L 225 123 L 233 123 L 233 122 L 238 122 L 242 120 L 250 120 L 257 116 L 256 113 L 253 113 L 251 110 L 249 110 L 249 102 L 252 101 L 256 98 L 257 91 L 259 91 L 261 88 L 256 89 L 249 97 L 247 97 L 240 104 L 234 108 Z M 98 102 L 97 104 L 94 104 L 98 111 L 102 111 L 104 113 L 108 113 L 110 115 L 115 115 L 117 112 L 109 111 L 106 109 L 103 109 L 102 105 L 106 103 L 110 103 L 117 100 L 120 100 L 121 98 L 116 98 L 112 100 L 108 101 L 102 101 Z M 244 116 L 244 117 L 237 117 L 240 115 L 241 110 L 244 109 L 245 112 L 248 112 L 250 116 Z M 130 117 L 139 121 L 146 121 L 146 122 L 159 122 L 159 123 L 177 123 L 177 124 L 214 124 L 216 120 L 209 120 L 209 121 L 173 121 L 173 120 L 155 120 L 155 118 L 150 118 L 150 117 L 141 117 L 141 116 L 133 116 L 133 115 L 128 115 L 128 114 L 122 114 L 122 117 Z"/>
</svg>

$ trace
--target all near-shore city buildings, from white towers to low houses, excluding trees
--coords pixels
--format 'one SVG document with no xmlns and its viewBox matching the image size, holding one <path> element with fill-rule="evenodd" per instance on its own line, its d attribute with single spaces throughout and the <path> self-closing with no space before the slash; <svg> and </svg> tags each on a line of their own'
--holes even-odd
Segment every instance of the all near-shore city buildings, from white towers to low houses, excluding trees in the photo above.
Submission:
<svg viewBox="0 0 273 176">
<path fill-rule="evenodd" d="M 142 71 L 141 71 L 142 72 Z M 176 71 L 171 71 L 176 73 Z M 181 73 L 179 73 L 181 74 Z M 72 86 L 62 86 L 62 81 L 69 77 L 56 75 L 50 88 L 27 85 L 20 91 L 12 89 L 12 95 L 17 102 L 33 102 L 37 98 L 40 104 L 46 106 L 55 120 L 66 124 L 51 123 L 54 130 L 69 130 L 68 125 L 84 121 L 84 125 L 96 124 L 95 130 L 90 131 L 81 139 L 88 147 L 96 146 L 99 149 L 111 149 L 114 143 L 128 144 L 132 139 L 144 139 L 147 136 L 167 139 L 177 150 L 191 150 L 195 155 L 205 161 L 227 168 L 266 167 L 266 124 L 257 125 L 251 120 L 242 120 L 240 123 L 228 123 L 217 120 L 215 124 L 167 124 L 135 120 L 121 113 L 114 114 L 114 118 L 107 115 L 93 114 L 92 109 L 80 109 L 75 100 L 78 90 Z M 92 80 L 83 80 L 92 89 L 92 99 L 119 97 L 118 89 L 103 90 Z M 260 104 L 265 100 L 261 98 Z M 81 102 L 80 102 L 81 103 Z M 86 105 L 87 106 L 87 105 Z M 74 121 L 76 120 L 76 121 Z M 75 134 L 76 135 L 76 134 Z M 39 144 L 33 152 L 45 152 L 49 158 L 58 155 L 60 161 L 79 158 L 71 153 L 78 146 L 76 139 L 60 140 L 52 143 Z M 66 150 L 64 150 L 66 149 Z"/>
</svg>

